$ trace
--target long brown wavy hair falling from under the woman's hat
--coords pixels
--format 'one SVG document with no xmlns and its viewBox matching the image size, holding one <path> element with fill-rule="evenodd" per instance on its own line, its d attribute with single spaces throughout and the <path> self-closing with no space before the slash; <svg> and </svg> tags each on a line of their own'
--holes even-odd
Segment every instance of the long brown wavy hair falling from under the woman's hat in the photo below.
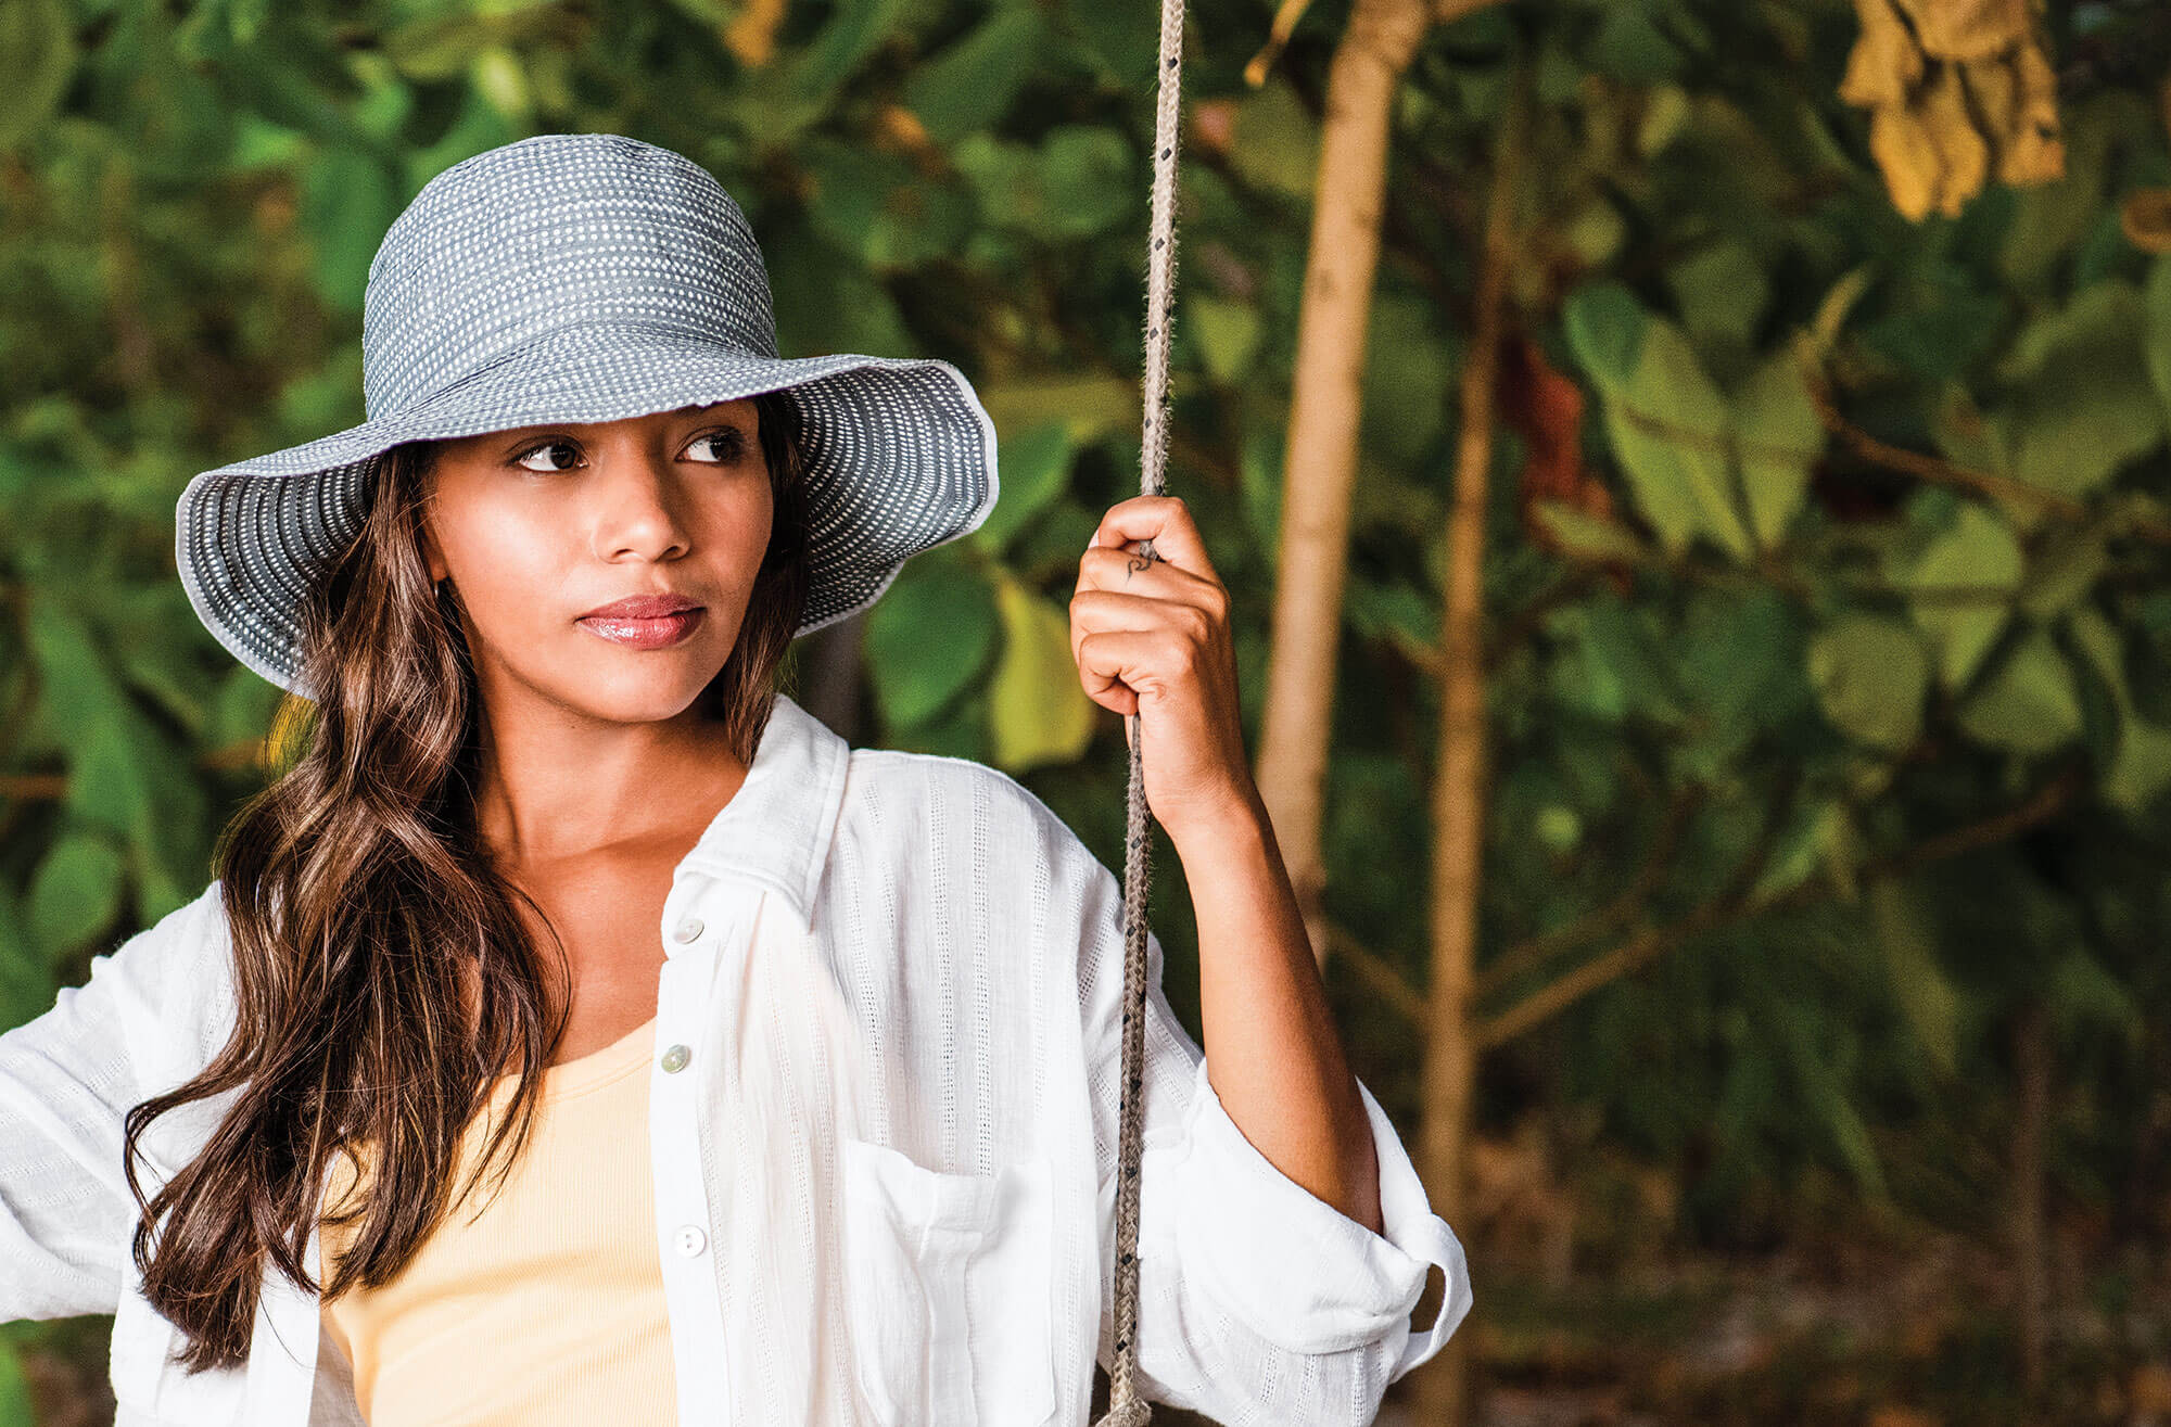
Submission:
<svg viewBox="0 0 2171 1427">
<path fill-rule="evenodd" d="M 799 408 L 786 393 L 753 403 L 775 520 L 738 644 L 699 700 L 740 759 L 775 707 L 808 592 Z M 363 533 L 304 609 L 304 672 L 321 696 L 289 696 L 297 753 L 213 857 L 232 928 L 232 1039 L 126 1117 L 135 1262 L 143 1295 L 187 1336 L 176 1360 L 191 1373 L 247 1360 L 265 1256 L 326 1299 L 391 1282 L 508 1143 L 512 1167 L 564 1030 L 567 998 L 549 993 L 567 985 L 564 946 L 545 963 L 515 898 L 547 917 L 475 833 L 478 685 L 458 592 L 430 581 L 421 544 L 439 449 L 378 460 Z M 506 1074 L 519 1076 L 508 1117 L 456 1195 L 462 1132 Z M 137 1139 L 226 1091 L 234 1104 L 202 1154 L 145 1201 Z M 319 1286 L 306 1254 L 326 1175 L 363 1147 L 371 1193 L 326 1214 L 360 1227 Z"/>
</svg>

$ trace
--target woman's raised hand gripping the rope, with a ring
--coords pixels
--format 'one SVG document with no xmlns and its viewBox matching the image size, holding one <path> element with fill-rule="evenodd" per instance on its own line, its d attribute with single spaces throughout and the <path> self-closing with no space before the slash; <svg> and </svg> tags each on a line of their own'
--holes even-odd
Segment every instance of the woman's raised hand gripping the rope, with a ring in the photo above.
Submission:
<svg viewBox="0 0 2171 1427">
<path fill-rule="evenodd" d="M 1133 549 L 1144 540 L 1153 540 L 1155 560 Z M 1138 714 L 1146 802 L 1172 841 L 1259 815 L 1229 590 L 1179 497 L 1140 494 L 1101 516 L 1070 596 L 1070 657 L 1088 698 Z M 1129 731 L 1125 718 L 1125 737 Z"/>
</svg>

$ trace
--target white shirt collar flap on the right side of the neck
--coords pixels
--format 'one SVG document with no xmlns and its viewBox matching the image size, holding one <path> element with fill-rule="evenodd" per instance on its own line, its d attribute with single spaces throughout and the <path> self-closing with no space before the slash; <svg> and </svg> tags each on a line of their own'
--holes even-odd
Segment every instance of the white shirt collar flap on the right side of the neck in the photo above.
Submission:
<svg viewBox="0 0 2171 1427">
<path fill-rule="evenodd" d="M 680 872 L 756 880 L 812 928 L 849 763 L 851 744 L 779 692 L 747 781 L 710 820 Z"/>
</svg>

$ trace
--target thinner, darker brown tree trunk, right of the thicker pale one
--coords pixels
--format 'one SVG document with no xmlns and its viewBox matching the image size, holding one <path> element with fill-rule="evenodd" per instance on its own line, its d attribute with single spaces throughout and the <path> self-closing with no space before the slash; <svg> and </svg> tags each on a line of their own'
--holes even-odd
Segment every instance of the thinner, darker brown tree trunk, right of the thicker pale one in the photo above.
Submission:
<svg viewBox="0 0 2171 1427">
<path fill-rule="evenodd" d="M 1463 362 L 1455 494 L 1448 510 L 1448 581 L 1439 618 L 1439 770 L 1433 779 L 1433 985 L 1424 1041 L 1424 1130 L 1418 1143 L 1433 1212 L 1461 1223 L 1470 1143 L 1470 1095 L 1478 1034 L 1470 1019 L 1476 980 L 1478 891 L 1485 876 L 1485 505 L 1491 477 L 1494 386 L 1502 340 L 1502 291 L 1513 262 L 1522 167 L 1522 76 L 1509 91 L 1494 150 L 1476 319 Z M 1470 1319 L 1415 1375 L 1418 1420 L 1461 1427 L 1470 1403 Z"/>
</svg>

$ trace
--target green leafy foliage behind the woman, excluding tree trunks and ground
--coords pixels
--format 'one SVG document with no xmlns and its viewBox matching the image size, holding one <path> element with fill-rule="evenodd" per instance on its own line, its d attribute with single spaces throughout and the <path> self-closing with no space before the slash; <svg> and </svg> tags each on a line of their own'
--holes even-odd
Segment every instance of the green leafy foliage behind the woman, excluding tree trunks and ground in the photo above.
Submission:
<svg viewBox="0 0 2171 1427">
<path fill-rule="evenodd" d="M 1188 100 L 1218 137 L 1185 154 L 1170 490 L 1240 596 L 1253 718 L 1346 15 L 1320 0 L 1253 91 L 1268 11 L 1192 7 Z M 1138 490 L 1155 15 L 808 0 L 762 65 L 736 24 L 710 0 L 0 7 L 0 1026 L 193 896 L 263 779 L 276 690 L 187 607 L 182 484 L 360 421 L 384 228 L 530 132 L 627 132 L 716 171 L 786 353 L 942 356 L 981 386 L 1003 499 L 868 620 L 879 742 L 1027 776 L 1118 865 L 1125 744 L 1079 711 L 1062 607 L 1099 514 Z M 1561 969 L 1531 946 L 1680 948 L 1507 1041 L 1481 1128 L 1587 1126 L 1678 1184 L 1680 1243 L 1865 1214 L 2002 1243 L 2030 1008 L 2054 1026 L 2056 1201 L 2112 1236 L 2171 1227 L 2171 258 L 2117 208 L 2171 182 L 2171 154 L 2160 74 L 2086 63 L 2132 54 L 2125 24 L 2054 7 L 2080 56 L 2062 182 L 1921 226 L 1832 93 L 1841 2 L 1502 7 L 1437 30 L 1400 95 L 1329 909 L 1422 991 L 1455 380 L 1522 56 L 1518 323 L 1587 401 L 1570 464 L 1611 514 L 1531 497 L 1531 445 L 1502 434 L 1483 943 L 1524 969 L 1491 1008 Z M 1937 471 L 1834 436 L 1813 380 L 1850 432 Z M 1155 920 L 1188 1008 L 1188 907 L 1164 891 Z M 1413 1126 L 1415 1028 L 1340 965 L 1331 985 L 1359 1074 Z M 1628 1249 L 1591 1232 L 1580 1254 Z M 2008 1377 L 1993 1355 L 1954 1390 Z"/>
</svg>

